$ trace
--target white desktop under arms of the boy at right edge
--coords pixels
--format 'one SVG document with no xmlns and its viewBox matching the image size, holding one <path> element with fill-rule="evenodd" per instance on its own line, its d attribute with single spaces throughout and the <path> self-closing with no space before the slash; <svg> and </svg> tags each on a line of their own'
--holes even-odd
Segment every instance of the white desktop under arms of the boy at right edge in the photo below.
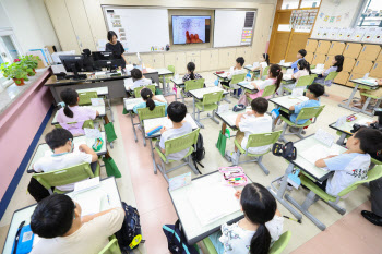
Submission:
<svg viewBox="0 0 382 254">
<path fill-rule="evenodd" d="M 315 167 L 314 164 L 309 162 L 307 159 L 305 159 L 302 156 L 299 155 L 299 153 L 301 153 L 302 150 L 313 147 L 317 144 L 323 145 L 323 143 L 314 138 L 314 135 L 310 135 L 303 140 L 295 142 L 294 145 L 297 149 L 297 158 L 291 162 L 321 182 L 327 178 L 330 172 L 322 168 Z M 332 145 L 331 148 L 333 148 L 333 150 L 338 152 L 338 154 L 343 154 L 344 152 L 347 150 L 345 147 L 342 147 L 335 143 Z"/>
</svg>

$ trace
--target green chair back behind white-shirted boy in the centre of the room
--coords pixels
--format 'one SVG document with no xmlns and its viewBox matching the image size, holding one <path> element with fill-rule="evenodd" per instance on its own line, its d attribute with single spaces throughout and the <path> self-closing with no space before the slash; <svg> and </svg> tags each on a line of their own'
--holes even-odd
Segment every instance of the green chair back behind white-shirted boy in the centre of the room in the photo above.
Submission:
<svg viewBox="0 0 382 254">
<path fill-rule="evenodd" d="M 200 129 L 196 129 L 186 135 L 167 140 L 165 142 L 165 156 L 167 157 L 169 154 L 181 152 L 196 144 L 199 131 Z"/>
</svg>

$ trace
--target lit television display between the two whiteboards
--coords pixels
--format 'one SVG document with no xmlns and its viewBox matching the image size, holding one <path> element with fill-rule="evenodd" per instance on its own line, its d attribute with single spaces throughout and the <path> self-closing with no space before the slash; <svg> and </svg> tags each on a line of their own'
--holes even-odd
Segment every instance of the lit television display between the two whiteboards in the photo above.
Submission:
<svg viewBox="0 0 382 254">
<path fill-rule="evenodd" d="M 172 16 L 172 44 L 210 43 L 211 16 Z"/>
</svg>

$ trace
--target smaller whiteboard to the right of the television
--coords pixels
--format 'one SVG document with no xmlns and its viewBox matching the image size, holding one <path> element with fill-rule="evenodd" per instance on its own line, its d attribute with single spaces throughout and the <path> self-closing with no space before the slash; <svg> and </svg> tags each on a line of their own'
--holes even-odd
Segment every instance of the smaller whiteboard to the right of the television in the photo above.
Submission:
<svg viewBox="0 0 382 254">
<path fill-rule="evenodd" d="M 253 23 L 244 27 L 246 13 L 254 13 Z M 214 47 L 252 44 L 255 11 L 215 11 Z"/>
</svg>

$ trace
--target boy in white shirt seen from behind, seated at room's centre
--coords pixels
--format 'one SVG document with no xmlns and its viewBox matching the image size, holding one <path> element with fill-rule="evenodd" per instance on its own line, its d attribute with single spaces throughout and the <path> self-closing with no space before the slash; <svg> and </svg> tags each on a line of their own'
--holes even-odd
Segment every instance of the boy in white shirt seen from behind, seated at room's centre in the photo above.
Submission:
<svg viewBox="0 0 382 254">
<path fill-rule="evenodd" d="M 166 153 L 165 142 L 168 140 L 172 140 L 178 136 L 186 135 L 190 132 L 192 132 L 192 125 L 191 123 L 183 121 L 187 114 L 187 107 L 184 104 L 179 101 L 171 102 L 167 108 L 167 117 L 172 122 L 172 128 L 166 129 L 166 126 L 163 126 L 160 130 L 162 136 L 159 145 L 160 152 L 163 154 Z M 186 148 L 181 152 L 169 154 L 167 156 L 168 160 L 180 160 L 183 158 L 190 148 Z"/>
</svg>

